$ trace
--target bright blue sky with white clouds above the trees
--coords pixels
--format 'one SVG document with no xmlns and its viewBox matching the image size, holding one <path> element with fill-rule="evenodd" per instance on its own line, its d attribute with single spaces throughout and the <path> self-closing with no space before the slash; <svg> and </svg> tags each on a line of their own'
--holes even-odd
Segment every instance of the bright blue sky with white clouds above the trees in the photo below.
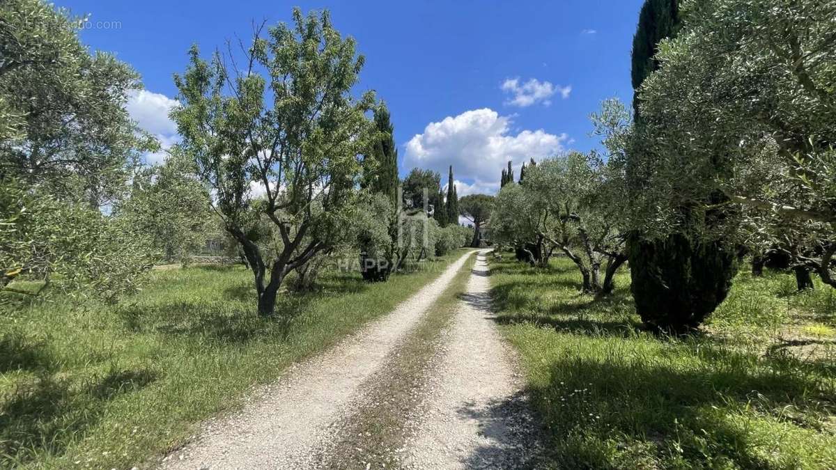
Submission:
<svg viewBox="0 0 836 470">
<path fill-rule="evenodd" d="M 192 43 L 247 38 L 253 20 L 289 21 L 293 6 L 328 8 L 365 55 L 359 89 L 389 105 L 400 172 L 452 164 L 459 194 L 495 192 L 503 161 L 587 151 L 589 113 L 629 102 L 630 44 L 641 0 L 334 2 L 56 0 L 90 14 L 82 39 L 142 74 L 129 110 L 168 144 L 166 119 Z M 158 158 L 159 156 L 152 156 Z"/>
</svg>

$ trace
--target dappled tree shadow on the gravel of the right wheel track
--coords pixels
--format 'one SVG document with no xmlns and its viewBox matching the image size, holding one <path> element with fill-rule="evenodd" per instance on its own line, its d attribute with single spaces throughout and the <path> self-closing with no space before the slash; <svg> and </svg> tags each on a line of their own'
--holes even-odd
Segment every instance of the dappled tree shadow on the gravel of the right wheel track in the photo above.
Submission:
<svg viewBox="0 0 836 470">
<path fill-rule="evenodd" d="M 487 408 L 466 403 L 458 413 L 477 421 L 479 435 L 488 441 L 466 457 L 464 467 L 538 468 L 543 462 L 541 427 L 524 391 L 492 401 Z"/>
</svg>

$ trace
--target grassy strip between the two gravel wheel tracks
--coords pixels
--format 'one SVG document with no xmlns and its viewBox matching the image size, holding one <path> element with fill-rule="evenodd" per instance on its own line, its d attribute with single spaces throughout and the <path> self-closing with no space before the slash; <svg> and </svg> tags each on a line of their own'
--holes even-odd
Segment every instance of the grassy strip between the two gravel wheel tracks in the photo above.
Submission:
<svg viewBox="0 0 836 470">
<path fill-rule="evenodd" d="M 433 363 L 441 359 L 439 343 L 456 316 L 476 254 L 461 267 L 405 340 L 387 356 L 380 372 L 368 381 L 363 401 L 339 427 L 324 457 L 326 468 L 396 467 L 408 429 L 407 421 L 420 406 L 421 388 Z"/>
</svg>

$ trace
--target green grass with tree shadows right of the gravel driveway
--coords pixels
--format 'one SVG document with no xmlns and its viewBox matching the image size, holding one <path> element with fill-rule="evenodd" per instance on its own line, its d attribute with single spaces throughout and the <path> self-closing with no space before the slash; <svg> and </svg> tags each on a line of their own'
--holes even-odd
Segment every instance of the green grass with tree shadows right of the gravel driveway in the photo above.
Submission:
<svg viewBox="0 0 836 470">
<path fill-rule="evenodd" d="M 832 328 L 832 290 L 743 273 L 703 334 L 674 339 L 638 328 L 629 273 L 609 299 L 579 294 L 564 258 L 491 278 L 554 467 L 836 467 L 836 346 L 808 333 Z"/>
</svg>

